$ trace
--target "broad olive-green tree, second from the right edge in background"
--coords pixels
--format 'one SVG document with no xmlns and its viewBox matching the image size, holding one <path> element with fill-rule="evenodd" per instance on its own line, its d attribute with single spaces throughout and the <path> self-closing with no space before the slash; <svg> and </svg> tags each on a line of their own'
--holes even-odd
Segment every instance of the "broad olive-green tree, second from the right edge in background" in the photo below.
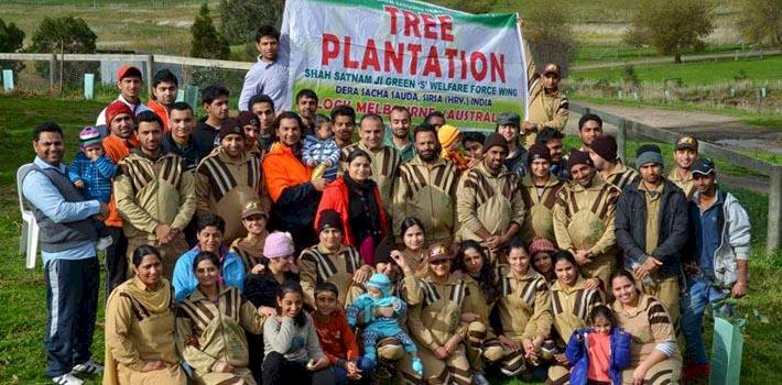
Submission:
<svg viewBox="0 0 782 385">
<path fill-rule="evenodd" d="M 714 31 L 713 12 L 714 6 L 704 0 L 641 0 L 626 38 L 682 63 L 683 53 L 706 45 L 703 38 Z"/>
</svg>

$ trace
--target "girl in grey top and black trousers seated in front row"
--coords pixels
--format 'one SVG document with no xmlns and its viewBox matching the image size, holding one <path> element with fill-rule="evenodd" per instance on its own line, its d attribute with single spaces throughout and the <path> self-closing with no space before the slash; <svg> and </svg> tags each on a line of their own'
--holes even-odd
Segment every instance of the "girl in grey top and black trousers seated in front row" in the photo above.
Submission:
<svg viewBox="0 0 782 385">
<path fill-rule="evenodd" d="M 278 316 L 263 323 L 264 385 L 336 384 L 303 298 L 298 284 L 284 284 L 276 295 Z"/>
</svg>

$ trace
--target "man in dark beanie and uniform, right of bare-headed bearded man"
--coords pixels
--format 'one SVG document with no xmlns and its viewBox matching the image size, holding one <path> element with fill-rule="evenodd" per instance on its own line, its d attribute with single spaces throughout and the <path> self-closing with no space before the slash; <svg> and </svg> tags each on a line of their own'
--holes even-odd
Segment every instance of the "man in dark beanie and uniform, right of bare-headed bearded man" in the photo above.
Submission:
<svg viewBox="0 0 782 385">
<path fill-rule="evenodd" d="M 524 223 L 524 201 L 521 198 L 519 176 L 504 166 L 508 141 L 492 133 L 484 142 L 484 161 L 467 172 L 456 191 L 456 212 L 461 227 L 461 240 L 480 242 L 497 253 Z"/>
</svg>

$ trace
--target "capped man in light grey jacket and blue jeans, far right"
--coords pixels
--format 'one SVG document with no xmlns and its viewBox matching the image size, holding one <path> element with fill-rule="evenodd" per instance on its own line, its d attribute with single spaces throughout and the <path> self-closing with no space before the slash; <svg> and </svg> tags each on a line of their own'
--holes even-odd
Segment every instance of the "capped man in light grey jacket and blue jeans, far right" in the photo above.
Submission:
<svg viewBox="0 0 782 385">
<path fill-rule="evenodd" d="M 692 173 L 695 193 L 689 200 L 688 240 L 695 250 L 683 254 L 687 292 L 682 296 L 682 331 L 688 359 L 684 376 L 687 378 L 709 373 L 702 334 L 706 306 L 710 306 L 715 315 L 729 316 L 732 309 L 718 307 L 717 301 L 727 296 L 747 295 L 751 230 L 741 204 L 717 184 L 712 160 L 696 160 Z"/>
</svg>

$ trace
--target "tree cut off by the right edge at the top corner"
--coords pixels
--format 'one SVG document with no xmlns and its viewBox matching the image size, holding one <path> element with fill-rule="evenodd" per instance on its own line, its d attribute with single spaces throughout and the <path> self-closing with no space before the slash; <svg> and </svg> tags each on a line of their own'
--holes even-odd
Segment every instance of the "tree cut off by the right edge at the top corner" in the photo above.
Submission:
<svg viewBox="0 0 782 385">
<path fill-rule="evenodd" d="M 782 46 L 782 0 L 743 0 L 738 29 L 750 44 Z"/>
</svg>

